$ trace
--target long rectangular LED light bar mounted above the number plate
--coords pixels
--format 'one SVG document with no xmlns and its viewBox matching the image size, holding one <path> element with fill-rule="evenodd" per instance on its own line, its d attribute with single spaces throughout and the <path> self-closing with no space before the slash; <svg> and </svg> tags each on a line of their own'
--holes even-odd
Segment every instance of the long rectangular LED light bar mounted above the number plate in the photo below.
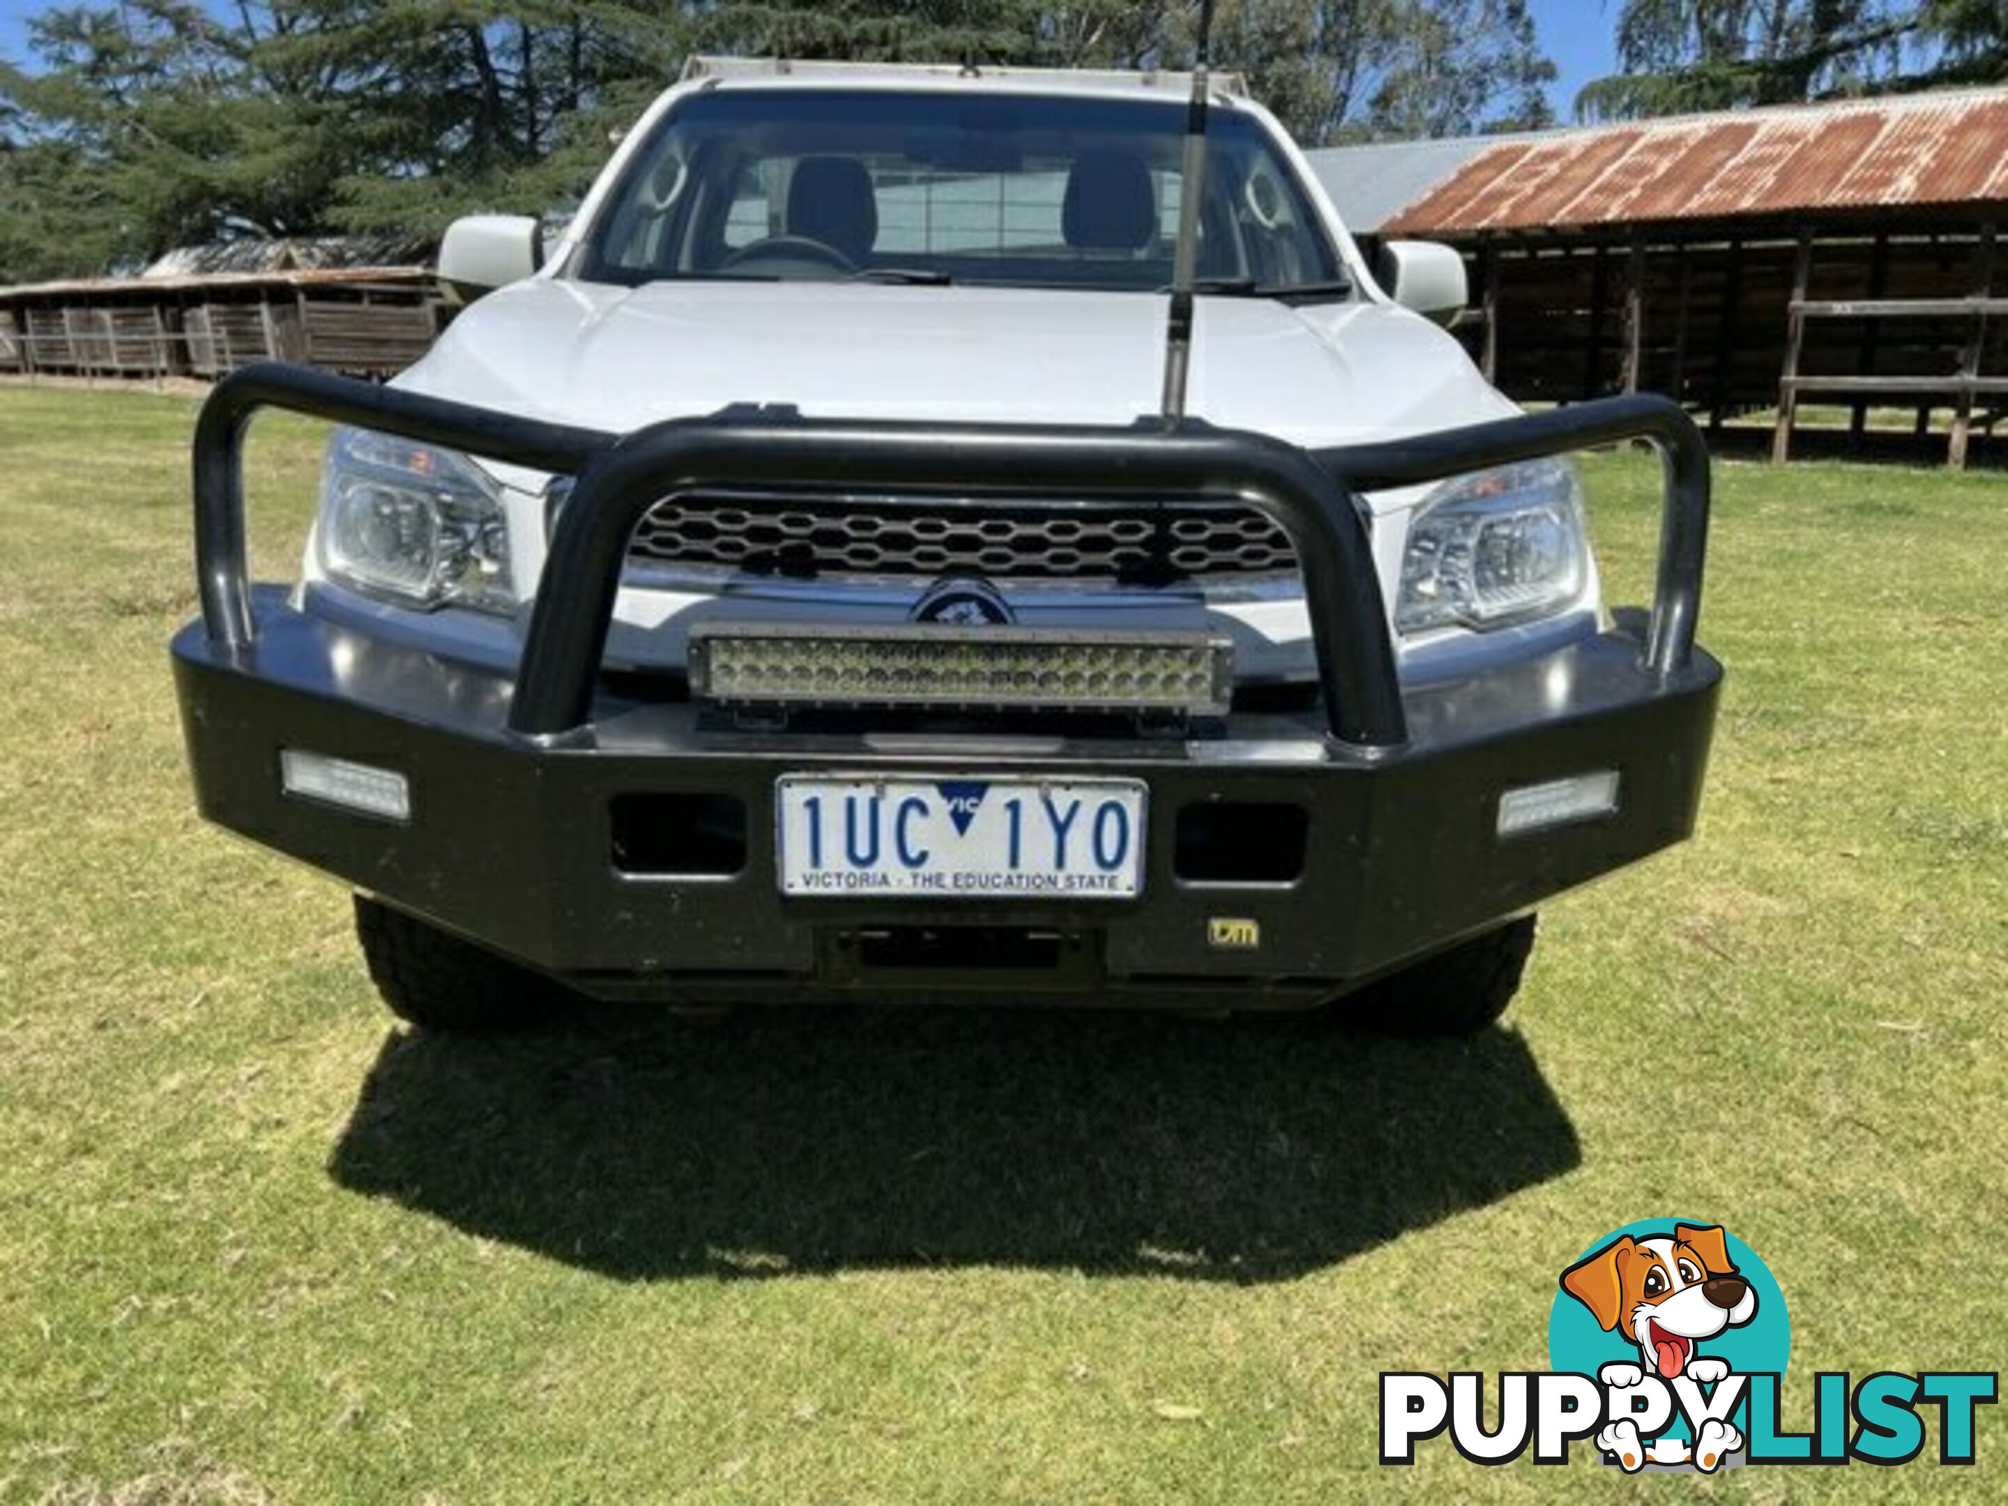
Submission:
<svg viewBox="0 0 2008 1506">
<path fill-rule="evenodd" d="M 1000 707 L 1221 715 L 1233 643 L 1215 633 L 705 622 L 691 693 L 719 705 Z"/>
</svg>

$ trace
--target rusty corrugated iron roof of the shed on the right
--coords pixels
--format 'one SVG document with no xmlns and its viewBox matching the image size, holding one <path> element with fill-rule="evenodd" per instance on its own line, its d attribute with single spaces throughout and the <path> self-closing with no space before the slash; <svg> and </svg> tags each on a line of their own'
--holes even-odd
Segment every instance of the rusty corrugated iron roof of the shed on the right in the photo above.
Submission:
<svg viewBox="0 0 2008 1506">
<path fill-rule="evenodd" d="M 1470 235 L 2008 201 L 2008 88 L 1729 110 L 1500 143 L 1388 219 Z"/>
</svg>

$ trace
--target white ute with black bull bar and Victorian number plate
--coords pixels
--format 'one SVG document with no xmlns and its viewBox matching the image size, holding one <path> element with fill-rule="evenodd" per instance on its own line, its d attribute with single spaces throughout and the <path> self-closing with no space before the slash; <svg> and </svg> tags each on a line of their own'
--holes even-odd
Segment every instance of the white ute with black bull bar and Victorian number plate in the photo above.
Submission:
<svg viewBox="0 0 2008 1506">
<path fill-rule="evenodd" d="M 1231 76 L 697 58 L 554 243 L 464 219 L 440 277 L 390 388 L 219 384 L 175 641 L 203 813 L 355 888 L 408 1020 L 1474 1030 L 1536 904 L 1693 829 L 1693 424 L 1522 416 L 1462 259 L 1369 265 Z M 245 572 L 263 406 L 341 426 L 289 590 Z M 1566 458 L 1622 440 L 1651 614 Z"/>
</svg>

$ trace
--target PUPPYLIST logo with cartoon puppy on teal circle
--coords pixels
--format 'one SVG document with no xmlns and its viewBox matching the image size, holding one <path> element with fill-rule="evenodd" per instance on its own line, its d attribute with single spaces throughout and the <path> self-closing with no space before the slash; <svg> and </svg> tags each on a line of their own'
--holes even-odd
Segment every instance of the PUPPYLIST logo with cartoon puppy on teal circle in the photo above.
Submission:
<svg viewBox="0 0 2008 1506">
<path fill-rule="evenodd" d="M 1791 1353 L 1785 1297 L 1757 1253 L 1721 1225 L 1647 1219 L 1614 1229 L 1558 1281 L 1548 1371 L 1386 1371 L 1379 1462 L 1414 1464 L 1448 1436 L 1472 1464 L 1568 1464 L 1588 1444 L 1626 1474 L 1715 1474 L 1745 1464 L 1910 1464 L 1936 1422 L 1938 1462 L 1974 1462 L 1974 1414 L 1992 1371 L 1879 1369 L 1813 1377 L 1813 1430 L 1785 1432 Z M 1486 1430 L 1484 1408 L 1494 1408 Z"/>
</svg>

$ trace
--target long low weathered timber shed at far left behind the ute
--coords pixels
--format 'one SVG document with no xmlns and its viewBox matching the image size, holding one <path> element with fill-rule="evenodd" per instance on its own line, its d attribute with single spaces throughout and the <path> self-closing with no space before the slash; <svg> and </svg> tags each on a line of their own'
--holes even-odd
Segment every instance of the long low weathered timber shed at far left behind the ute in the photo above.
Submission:
<svg viewBox="0 0 2008 1506">
<path fill-rule="evenodd" d="M 0 289 L 0 373 L 207 380 L 281 359 L 388 378 L 444 321 L 424 267 L 38 283 Z"/>
</svg>

